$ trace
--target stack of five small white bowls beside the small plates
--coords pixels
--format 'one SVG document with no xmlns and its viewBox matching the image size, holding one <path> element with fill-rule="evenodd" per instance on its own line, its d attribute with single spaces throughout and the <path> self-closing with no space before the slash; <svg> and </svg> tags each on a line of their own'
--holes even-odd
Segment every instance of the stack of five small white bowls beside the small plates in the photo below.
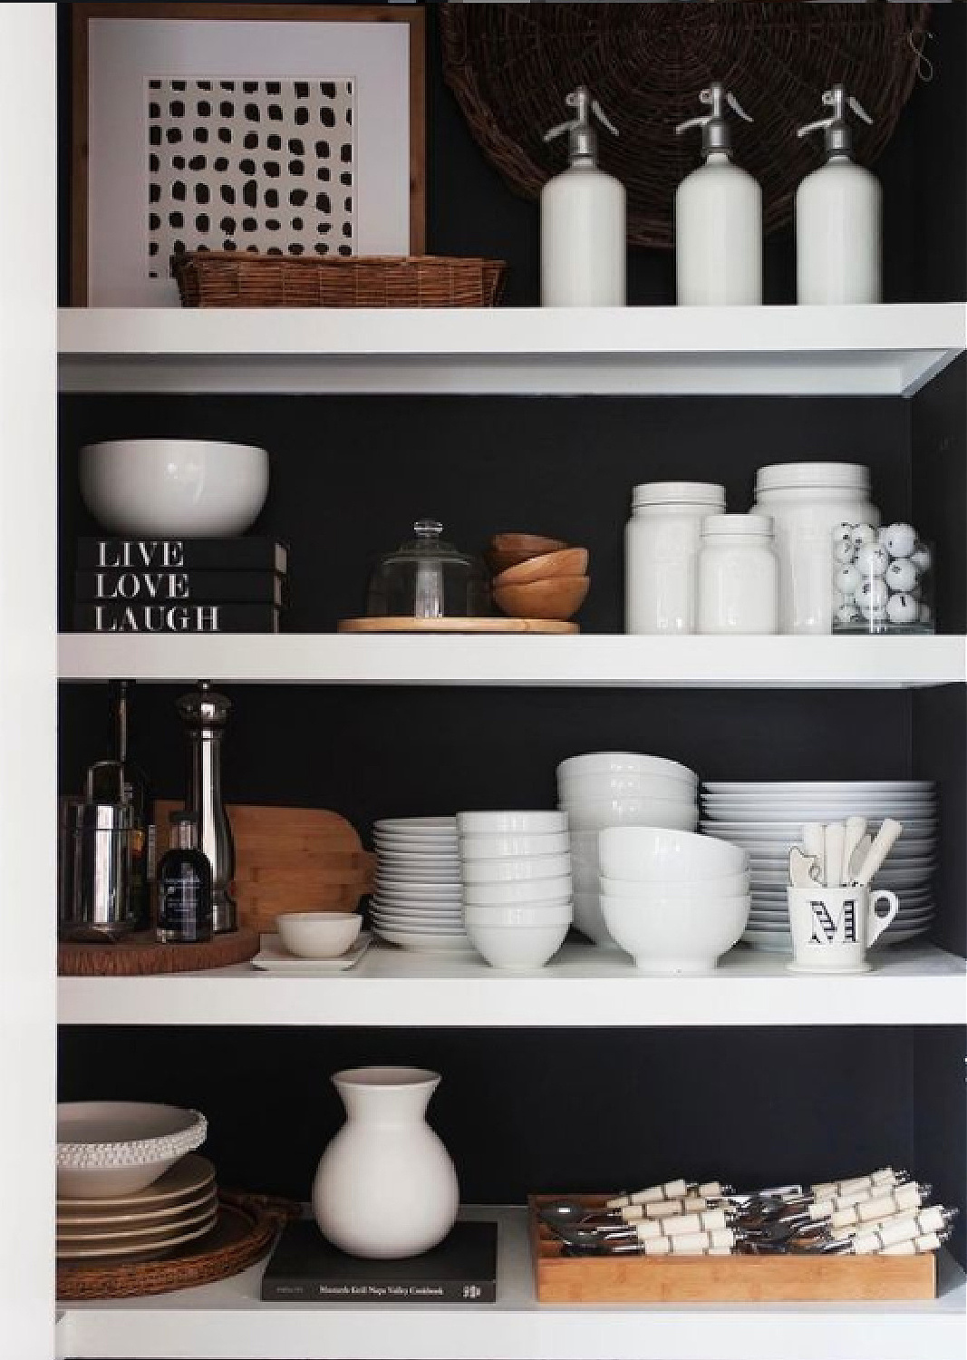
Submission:
<svg viewBox="0 0 967 1360">
<path fill-rule="evenodd" d="M 540 968 L 573 919 L 566 812 L 458 812 L 464 922 L 494 968 Z"/>
</svg>

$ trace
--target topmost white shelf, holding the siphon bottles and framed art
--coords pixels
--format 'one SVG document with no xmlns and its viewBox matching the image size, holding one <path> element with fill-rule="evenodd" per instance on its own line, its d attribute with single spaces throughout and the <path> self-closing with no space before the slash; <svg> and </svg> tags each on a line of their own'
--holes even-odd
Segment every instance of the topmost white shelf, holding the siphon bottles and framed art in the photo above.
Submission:
<svg viewBox="0 0 967 1360">
<path fill-rule="evenodd" d="M 913 396 L 963 303 L 60 313 L 64 392 Z"/>
</svg>

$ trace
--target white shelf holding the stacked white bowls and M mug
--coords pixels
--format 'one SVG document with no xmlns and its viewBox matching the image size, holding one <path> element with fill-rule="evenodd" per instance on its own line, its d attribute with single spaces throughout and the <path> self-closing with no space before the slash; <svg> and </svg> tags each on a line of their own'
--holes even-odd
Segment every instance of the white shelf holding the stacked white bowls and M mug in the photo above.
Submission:
<svg viewBox="0 0 967 1360">
<path fill-rule="evenodd" d="M 374 945 L 350 972 L 268 975 L 250 964 L 154 978 L 61 978 L 61 1024 L 839 1025 L 967 1024 L 967 964 L 926 947 L 877 951 L 862 976 L 787 974 L 734 949 L 703 978 L 651 978 L 627 955 L 569 940 L 532 974 Z"/>
</svg>

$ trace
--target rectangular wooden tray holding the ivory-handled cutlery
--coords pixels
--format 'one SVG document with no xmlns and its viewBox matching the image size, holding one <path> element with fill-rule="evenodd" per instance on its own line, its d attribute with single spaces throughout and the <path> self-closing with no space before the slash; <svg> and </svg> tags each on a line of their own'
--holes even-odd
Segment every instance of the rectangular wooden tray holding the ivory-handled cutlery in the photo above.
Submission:
<svg viewBox="0 0 967 1360">
<path fill-rule="evenodd" d="M 936 1299 L 937 1262 L 922 1257 L 564 1257 L 530 1195 L 528 1228 L 539 1303 L 802 1303 Z M 600 1208 L 604 1195 L 567 1195 Z"/>
</svg>

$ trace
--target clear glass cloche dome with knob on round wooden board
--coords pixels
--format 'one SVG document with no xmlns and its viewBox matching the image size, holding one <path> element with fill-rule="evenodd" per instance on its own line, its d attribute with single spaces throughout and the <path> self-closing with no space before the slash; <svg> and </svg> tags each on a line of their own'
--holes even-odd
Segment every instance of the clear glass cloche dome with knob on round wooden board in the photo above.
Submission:
<svg viewBox="0 0 967 1360">
<path fill-rule="evenodd" d="M 437 520 L 418 520 L 413 539 L 377 563 L 366 596 L 369 617 L 472 619 L 488 615 L 483 562 L 443 539 Z"/>
</svg>

